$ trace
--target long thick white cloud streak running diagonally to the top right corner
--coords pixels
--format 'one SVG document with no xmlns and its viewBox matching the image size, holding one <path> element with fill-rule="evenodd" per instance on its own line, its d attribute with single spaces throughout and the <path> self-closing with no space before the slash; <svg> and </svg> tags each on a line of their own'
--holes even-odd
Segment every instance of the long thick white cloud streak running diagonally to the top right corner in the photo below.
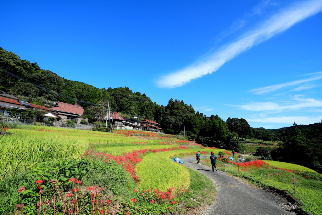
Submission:
<svg viewBox="0 0 322 215">
<path fill-rule="evenodd" d="M 237 41 L 222 47 L 204 60 L 190 65 L 175 73 L 161 77 L 158 87 L 179 87 L 193 79 L 217 71 L 223 64 L 236 55 L 250 49 L 252 46 L 268 40 L 275 34 L 281 33 L 292 25 L 322 10 L 322 0 L 306 1 L 281 11 L 263 22 L 257 29 L 244 34 Z"/>
</svg>

